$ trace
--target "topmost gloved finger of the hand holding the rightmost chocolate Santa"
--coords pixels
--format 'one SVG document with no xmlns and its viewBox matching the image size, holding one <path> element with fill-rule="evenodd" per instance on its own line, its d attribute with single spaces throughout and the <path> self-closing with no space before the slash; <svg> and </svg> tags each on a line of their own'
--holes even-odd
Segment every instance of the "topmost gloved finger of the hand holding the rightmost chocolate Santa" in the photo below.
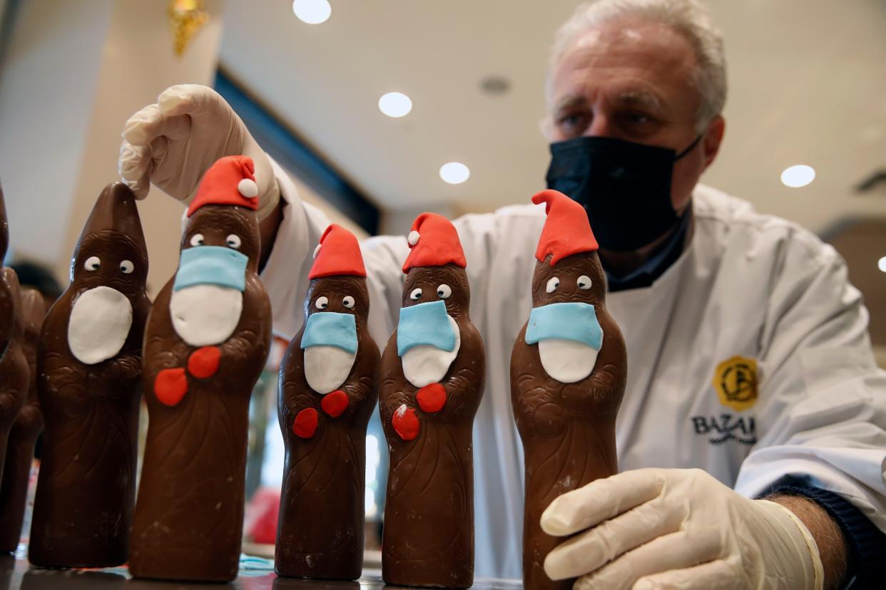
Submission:
<svg viewBox="0 0 886 590">
<path fill-rule="evenodd" d="M 661 493 L 664 474 L 637 469 L 597 479 L 559 497 L 541 514 L 541 530 L 555 537 L 578 533 L 649 502 Z"/>
</svg>

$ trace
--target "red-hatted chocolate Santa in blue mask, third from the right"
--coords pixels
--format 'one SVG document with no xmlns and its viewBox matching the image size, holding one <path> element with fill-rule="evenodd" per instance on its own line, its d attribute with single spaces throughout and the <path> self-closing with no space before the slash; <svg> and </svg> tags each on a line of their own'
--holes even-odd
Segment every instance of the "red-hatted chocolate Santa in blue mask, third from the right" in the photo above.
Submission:
<svg viewBox="0 0 886 590">
<path fill-rule="evenodd" d="M 281 576 L 357 579 L 363 564 L 366 426 L 377 402 L 378 347 L 366 325 L 369 291 L 354 234 L 320 238 L 305 326 L 280 369 L 286 444 L 275 570 Z"/>
</svg>

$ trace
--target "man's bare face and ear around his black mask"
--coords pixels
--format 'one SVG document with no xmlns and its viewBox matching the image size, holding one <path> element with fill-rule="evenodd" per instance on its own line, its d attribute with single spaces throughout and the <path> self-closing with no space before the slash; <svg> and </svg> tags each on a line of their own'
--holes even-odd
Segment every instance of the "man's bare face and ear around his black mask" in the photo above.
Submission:
<svg viewBox="0 0 886 590">
<path fill-rule="evenodd" d="M 701 96 L 689 42 L 670 27 L 616 20 L 588 29 L 553 72 L 551 141 L 607 136 L 678 152 L 696 138 Z M 717 155 L 723 119 L 673 170 L 671 201 L 682 212 L 699 176 Z"/>
</svg>

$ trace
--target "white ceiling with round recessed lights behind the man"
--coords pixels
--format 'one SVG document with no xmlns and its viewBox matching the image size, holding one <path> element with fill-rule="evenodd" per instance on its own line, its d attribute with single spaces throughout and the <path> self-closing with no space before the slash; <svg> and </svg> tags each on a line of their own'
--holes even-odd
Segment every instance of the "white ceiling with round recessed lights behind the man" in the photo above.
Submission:
<svg viewBox="0 0 886 590">
<path fill-rule="evenodd" d="M 383 209 L 449 204 L 491 211 L 543 188 L 539 131 L 553 34 L 574 0 L 330 0 L 306 25 L 286 0 L 229 2 L 221 64 Z M 822 231 L 852 216 L 886 217 L 886 186 L 852 187 L 886 168 L 886 2 L 710 0 L 727 45 L 727 139 L 705 181 L 759 210 Z M 511 82 L 487 96 L 489 74 Z M 390 119 L 398 90 L 413 111 Z M 458 160 L 470 180 L 448 185 Z M 809 164 L 806 188 L 781 170 Z"/>
</svg>

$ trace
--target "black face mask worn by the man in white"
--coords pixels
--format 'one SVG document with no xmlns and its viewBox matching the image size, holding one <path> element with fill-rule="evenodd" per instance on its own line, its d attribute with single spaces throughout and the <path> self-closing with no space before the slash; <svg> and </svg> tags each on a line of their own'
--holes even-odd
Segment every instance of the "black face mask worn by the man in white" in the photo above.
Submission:
<svg viewBox="0 0 886 590">
<path fill-rule="evenodd" d="M 673 165 L 701 139 L 679 154 L 612 137 L 551 143 L 548 188 L 581 203 L 601 249 L 640 249 L 679 223 L 671 204 Z"/>
</svg>

